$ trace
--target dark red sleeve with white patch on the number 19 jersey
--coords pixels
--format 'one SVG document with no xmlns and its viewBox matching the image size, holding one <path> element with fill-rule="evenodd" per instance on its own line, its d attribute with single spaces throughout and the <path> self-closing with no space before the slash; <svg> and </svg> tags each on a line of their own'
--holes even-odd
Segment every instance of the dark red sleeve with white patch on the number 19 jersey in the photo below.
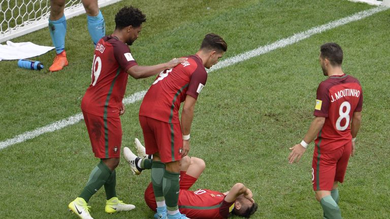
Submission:
<svg viewBox="0 0 390 219">
<path fill-rule="evenodd" d="M 114 56 L 120 68 L 122 68 L 124 71 L 127 71 L 127 69 L 137 65 L 136 60 L 133 58 L 133 55 L 126 44 L 118 41 L 117 43 L 113 44 L 113 47 Z"/>
</svg>

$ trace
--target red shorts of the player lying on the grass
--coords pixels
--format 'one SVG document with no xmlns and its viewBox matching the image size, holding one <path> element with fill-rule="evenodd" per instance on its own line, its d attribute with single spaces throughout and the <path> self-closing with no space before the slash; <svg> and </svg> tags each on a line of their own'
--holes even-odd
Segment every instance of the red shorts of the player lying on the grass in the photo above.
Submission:
<svg viewBox="0 0 390 219">
<path fill-rule="evenodd" d="M 180 171 L 180 181 L 179 181 L 180 190 L 188 190 L 196 181 L 197 178 L 185 174 L 184 171 Z M 149 208 L 152 209 L 153 211 L 156 211 L 157 204 L 156 204 L 156 199 L 154 198 L 153 185 L 151 182 L 145 190 L 144 198 Z M 179 193 L 179 200 L 180 200 L 180 193 Z"/>
</svg>

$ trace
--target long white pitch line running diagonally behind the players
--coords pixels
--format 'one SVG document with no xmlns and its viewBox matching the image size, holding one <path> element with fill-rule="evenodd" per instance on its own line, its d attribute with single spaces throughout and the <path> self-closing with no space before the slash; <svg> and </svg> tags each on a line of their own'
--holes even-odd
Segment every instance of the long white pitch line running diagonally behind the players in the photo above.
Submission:
<svg viewBox="0 0 390 219">
<path fill-rule="evenodd" d="M 224 59 L 224 60 L 218 62 L 212 68 L 210 68 L 210 70 L 208 70 L 208 72 L 211 72 L 211 71 L 223 68 L 223 67 L 227 67 L 227 66 L 236 64 L 238 62 L 245 61 L 247 59 L 268 53 L 270 51 L 273 51 L 273 50 L 276 50 L 279 48 L 286 47 L 288 45 L 291 45 L 291 44 L 297 43 L 299 41 L 302 41 L 304 39 L 307 39 L 314 34 L 321 33 L 323 31 L 327 31 L 329 29 L 333 29 L 335 27 L 350 23 L 352 21 L 361 20 L 363 18 L 366 18 L 366 17 L 371 16 L 371 15 L 378 13 L 378 12 L 384 11 L 386 9 L 388 9 L 388 8 L 376 7 L 373 9 L 369 9 L 366 11 L 355 13 L 351 16 L 348 16 L 348 17 L 345 17 L 345 18 L 342 18 L 339 20 L 329 22 L 327 24 L 313 27 L 313 28 L 306 30 L 304 32 L 296 33 L 292 36 L 289 36 L 288 38 L 276 41 L 272 44 L 268 44 L 266 46 L 261 46 L 261 47 L 258 47 L 257 49 L 250 50 L 248 52 L 239 54 L 237 56 L 234 56 L 234 57 L 231 57 L 228 59 Z M 130 103 L 134 103 L 138 100 L 141 100 L 145 96 L 145 94 L 146 94 L 146 90 L 132 94 L 131 96 L 124 98 L 123 103 L 125 105 L 130 104 Z M 0 142 L 0 150 L 5 149 L 5 148 L 9 147 L 10 145 L 17 144 L 17 143 L 23 142 L 23 141 L 31 139 L 31 138 L 35 138 L 41 134 L 44 134 L 47 132 L 53 132 L 53 131 L 56 131 L 58 129 L 76 124 L 76 123 L 80 122 L 82 119 L 83 119 L 83 115 L 80 113 L 80 114 L 76 114 L 74 116 L 71 116 L 67 119 L 63 119 L 63 120 L 54 122 L 52 124 L 49 124 L 47 126 L 35 129 L 33 131 L 24 132 L 23 134 L 17 135 L 13 138 L 7 139 L 5 141 L 1 141 Z"/>
</svg>

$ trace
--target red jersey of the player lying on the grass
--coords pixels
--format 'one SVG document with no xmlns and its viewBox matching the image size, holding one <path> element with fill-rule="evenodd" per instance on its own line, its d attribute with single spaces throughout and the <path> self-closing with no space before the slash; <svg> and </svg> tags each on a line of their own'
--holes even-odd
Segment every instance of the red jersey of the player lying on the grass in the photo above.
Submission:
<svg viewBox="0 0 390 219">
<path fill-rule="evenodd" d="M 234 202 L 224 198 L 222 193 L 207 189 L 180 190 L 179 210 L 190 218 L 228 218 Z"/>
</svg>

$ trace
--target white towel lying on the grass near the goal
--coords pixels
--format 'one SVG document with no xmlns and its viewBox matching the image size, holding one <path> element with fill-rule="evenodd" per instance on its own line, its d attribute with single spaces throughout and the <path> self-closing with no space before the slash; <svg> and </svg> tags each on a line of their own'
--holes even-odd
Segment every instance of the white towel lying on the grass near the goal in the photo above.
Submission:
<svg viewBox="0 0 390 219">
<path fill-rule="evenodd" d="M 7 41 L 7 45 L 0 44 L 0 61 L 31 58 L 47 53 L 52 49 L 54 47 L 39 46 L 31 42 L 12 43 Z"/>
</svg>

